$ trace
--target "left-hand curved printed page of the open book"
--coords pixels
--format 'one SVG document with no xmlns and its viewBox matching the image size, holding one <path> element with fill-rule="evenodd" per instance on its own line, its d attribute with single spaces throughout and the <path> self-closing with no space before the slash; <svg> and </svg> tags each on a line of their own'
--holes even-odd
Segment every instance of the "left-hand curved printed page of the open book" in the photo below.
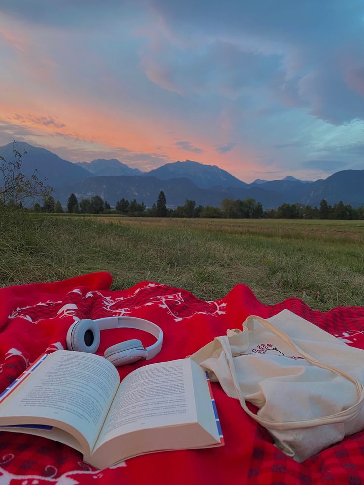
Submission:
<svg viewBox="0 0 364 485">
<path fill-rule="evenodd" d="M 92 448 L 119 381 L 115 367 L 99 355 L 56 351 L 4 399 L 0 424 L 14 416 L 29 417 L 27 424 L 32 417 L 58 420 L 78 430 Z"/>
</svg>

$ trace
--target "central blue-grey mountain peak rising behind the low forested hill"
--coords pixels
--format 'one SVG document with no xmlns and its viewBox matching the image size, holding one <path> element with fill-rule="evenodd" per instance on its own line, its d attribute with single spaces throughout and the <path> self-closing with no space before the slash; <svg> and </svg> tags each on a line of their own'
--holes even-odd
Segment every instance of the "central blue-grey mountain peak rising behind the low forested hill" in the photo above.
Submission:
<svg viewBox="0 0 364 485">
<path fill-rule="evenodd" d="M 145 172 L 143 176 L 153 176 L 161 180 L 185 177 L 201 188 L 248 187 L 247 183 L 242 182 L 216 165 L 205 165 L 192 160 L 166 163 L 157 169 Z"/>
</svg>

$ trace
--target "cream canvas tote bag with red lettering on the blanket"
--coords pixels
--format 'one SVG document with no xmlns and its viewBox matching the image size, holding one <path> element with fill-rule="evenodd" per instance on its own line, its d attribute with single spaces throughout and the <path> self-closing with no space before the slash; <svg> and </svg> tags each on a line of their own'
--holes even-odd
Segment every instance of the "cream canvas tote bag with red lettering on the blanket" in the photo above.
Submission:
<svg viewBox="0 0 364 485">
<path fill-rule="evenodd" d="M 364 351 L 289 310 L 250 316 L 190 358 L 298 462 L 364 428 Z"/>
</svg>

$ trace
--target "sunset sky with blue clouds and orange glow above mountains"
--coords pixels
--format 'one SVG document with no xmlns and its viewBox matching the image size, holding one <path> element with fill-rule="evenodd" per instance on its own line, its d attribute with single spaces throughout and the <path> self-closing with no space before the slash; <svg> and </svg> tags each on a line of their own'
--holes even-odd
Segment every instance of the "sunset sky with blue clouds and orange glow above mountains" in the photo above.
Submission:
<svg viewBox="0 0 364 485">
<path fill-rule="evenodd" d="M 0 145 L 256 178 L 364 169 L 364 0 L 0 0 Z"/>
</svg>

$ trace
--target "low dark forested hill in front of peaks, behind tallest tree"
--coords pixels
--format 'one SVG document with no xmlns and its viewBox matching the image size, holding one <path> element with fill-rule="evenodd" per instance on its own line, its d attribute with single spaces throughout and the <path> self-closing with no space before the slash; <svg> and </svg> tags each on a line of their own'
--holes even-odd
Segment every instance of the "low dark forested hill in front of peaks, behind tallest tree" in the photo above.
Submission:
<svg viewBox="0 0 364 485">
<path fill-rule="evenodd" d="M 219 206 L 224 198 L 245 199 L 252 197 L 262 202 L 263 207 L 277 207 L 284 202 L 281 194 L 257 188 L 226 187 L 203 189 L 197 187 L 188 178 L 171 178 L 161 180 L 147 176 L 100 176 L 90 177 L 81 182 L 57 190 L 55 197 L 62 204 L 67 202 L 73 192 L 78 200 L 90 199 L 93 195 L 100 195 L 111 205 L 115 205 L 122 197 L 131 200 L 137 199 L 148 207 L 157 201 L 159 192 L 163 190 L 166 195 L 168 207 L 183 205 L 186 199 L 195 200 L 197 205 Z"/>
</svg>

